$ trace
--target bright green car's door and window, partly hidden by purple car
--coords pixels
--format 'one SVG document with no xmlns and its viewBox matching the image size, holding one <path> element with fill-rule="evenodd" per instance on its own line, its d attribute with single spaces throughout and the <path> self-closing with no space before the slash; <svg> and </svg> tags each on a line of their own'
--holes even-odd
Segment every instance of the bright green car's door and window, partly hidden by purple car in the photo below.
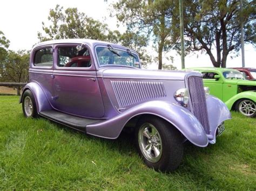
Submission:
<svg viewBox="0 0 256 191">
<path fill-rule="evenodd" d="M 223 98 L 223 79 L 221 75 L 219 79 L 215 79 L 214 75 L 219 75 L 214 71 L 200 71 L 203 74 L 204 86 L 210 88 L 210 94 L 218 97 L 220 100 Z"/>
</svg>

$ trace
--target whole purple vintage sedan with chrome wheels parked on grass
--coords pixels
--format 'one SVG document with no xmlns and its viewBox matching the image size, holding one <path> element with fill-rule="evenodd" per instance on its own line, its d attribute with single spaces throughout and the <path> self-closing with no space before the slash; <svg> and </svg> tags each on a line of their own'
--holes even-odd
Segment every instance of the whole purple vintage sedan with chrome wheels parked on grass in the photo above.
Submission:
<svg viewBox="0 0 256 191">
<path fill-rule="evenodd" d="M 31 51 L 29 77 L 20 101 L 26 117 L 109 139 L 134 130 L 145 164 L 164 172 L 178 167 L 186 140 L 214 144 L 231 118 L 204 89 L 199 72 L 141 69 L 136 52 L 103 41 L 39 43 Z"/>
</svg>

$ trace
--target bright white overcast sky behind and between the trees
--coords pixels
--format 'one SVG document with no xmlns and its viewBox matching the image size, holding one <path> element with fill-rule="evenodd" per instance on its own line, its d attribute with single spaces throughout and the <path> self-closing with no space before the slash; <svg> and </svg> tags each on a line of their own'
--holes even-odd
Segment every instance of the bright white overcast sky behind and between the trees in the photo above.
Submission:
<svg viewBox="0 0 256 191">
<path fill-rule="evenodd" d="M 19 49 L 31 49 L 38 43 L 37 32 L 43 32 L 42 22 L 47 25 L 50 9 L 54 9 L 57 4 L 66 8 L 78 8 L 93 19 L 109 25 L 111 30 L 120 30 L 124 32 L 124 27 L 117 27 L 116 18 L 109 16 L 109 5 L 117 0 L 44 0 L 44 1 L 2 1 L 0 7 L 0 31 L 3 31 L 5 37 L 10 40 L 10 47 L 14 51 Z M 149 48 L 152 50 L 152 48 Z M 157 56 L 157 53 L 149 52 Z M 241 53 L 240 53 L 241 54 Z M 181 68 L 180 56 L 176 51 L 170 51 L 165 55 L 174 57 L 173 63 L 164 59 L 164 63 L 172 64 L 178 69 Z M 245 66 L 256 68 L 256 49 L 252 45 L 245 45 Z M 191 53 L 185 57 L 185 67 L 212 67 L 211 60 L 207 54 Z M 228 56 L 227 67 L 241 67 L 241 56 L 231 59 Z M 152 63 L 149 69 L 157 69 L 157 63 Z"/>
</svg>

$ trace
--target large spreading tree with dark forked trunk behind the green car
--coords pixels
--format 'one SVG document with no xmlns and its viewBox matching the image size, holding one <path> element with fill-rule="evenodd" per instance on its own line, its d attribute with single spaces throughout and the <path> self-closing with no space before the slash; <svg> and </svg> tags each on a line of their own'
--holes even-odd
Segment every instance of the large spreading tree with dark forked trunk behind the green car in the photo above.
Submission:
<svg viewBox="0 0 256 191">
<path fill-rule="evenodd" d="M 186 51 L 206 52 L 214 67 L 226 67 L 227 55 L 239 51 L 241 47 L 241 22 L 244 22 L 245 42 L 255 45 L 256 17 L 253 1 L 243 1 L 242 11 L 239 0 L 183 2 Z M 178 10 L 173 9 L 169 14 L 173 18 L 173 26 L 178 26 Z M 174 33 L 174 38 L 177 38 L 177 32 Z M 179 44 L 174 47 L 180 49 Z M 214 49 L 217 51 L 216 56 Z"/>
</svg>

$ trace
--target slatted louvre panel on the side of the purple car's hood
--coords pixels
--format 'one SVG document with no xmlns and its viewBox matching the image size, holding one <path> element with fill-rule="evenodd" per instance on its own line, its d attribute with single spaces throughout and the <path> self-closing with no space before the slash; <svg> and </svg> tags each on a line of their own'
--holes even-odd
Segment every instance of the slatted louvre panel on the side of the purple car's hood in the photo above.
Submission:
<svg viewBox="0 0 256 191">
<path fill-rule="evenodd" d="M 163 82 L 111 81 L 111 84 L 122 108 L 166 96 Z"/>
</svg>

